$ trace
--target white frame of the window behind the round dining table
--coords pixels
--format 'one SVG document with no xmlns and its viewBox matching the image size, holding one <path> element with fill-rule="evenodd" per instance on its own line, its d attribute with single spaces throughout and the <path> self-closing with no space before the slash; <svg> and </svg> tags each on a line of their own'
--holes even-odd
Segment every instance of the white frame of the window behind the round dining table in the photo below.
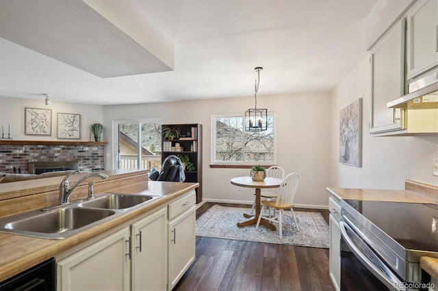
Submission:
<svg viewBox="0 0 438 291">
<path fill-rule="evenodd" d="M 211 165 L 254 165 L 255 163 L 260 164 L 260 165 L 276 165 L 276 113 L 275 112 L 268 112 L 268 115 L 272 115 L 272 117 L 274 118 L 274 126 L 273 126 L 273 133 L 274 133 L 274 138 L 273 138 L 273 152 L 272 152 L 272 160 L 273 161 L 262 161 L 262 162 L 257 162 L 257 161 L 227 161 L 227 162 L 223 162 L 223 161 L 216 161 L 216 118 L 217 117 L 242 117 L 242 119 L 244 119 L 245 114 L 244 113 L 224 113 L 224 114 L 216 114 L 216 115 L 211 115 L 211 121 L 210 121 L 210 126 L 211 126 L 211 153 L 210 153 L 210 157 L 211 157 Z"/>
</svg>

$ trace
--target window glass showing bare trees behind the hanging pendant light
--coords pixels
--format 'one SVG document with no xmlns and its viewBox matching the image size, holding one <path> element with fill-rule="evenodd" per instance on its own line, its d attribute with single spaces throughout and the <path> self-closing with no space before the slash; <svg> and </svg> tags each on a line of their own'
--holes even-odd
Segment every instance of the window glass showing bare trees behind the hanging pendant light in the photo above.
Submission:
<svg viewBox="0 0 438 291">
<path fill-rule="evenodd" d="M 265 131 L 245 132 L 243 122 L 244 115 L 214 117 L 214 162 L 274 162 L 274 115 Z"/>
</svg>

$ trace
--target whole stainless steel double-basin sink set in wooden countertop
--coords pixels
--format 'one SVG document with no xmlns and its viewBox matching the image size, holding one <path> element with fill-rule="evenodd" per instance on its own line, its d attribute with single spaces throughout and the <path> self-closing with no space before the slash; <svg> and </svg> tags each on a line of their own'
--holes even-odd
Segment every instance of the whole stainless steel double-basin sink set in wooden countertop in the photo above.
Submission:
<svg viewBox="0 0 438 291">
<path fill-rule="evenodd" d="M 154 202 L 162 196 L 103 193 L 94 199 L 0 219 L 0 232 L 62 239 Z"/>
</svg>

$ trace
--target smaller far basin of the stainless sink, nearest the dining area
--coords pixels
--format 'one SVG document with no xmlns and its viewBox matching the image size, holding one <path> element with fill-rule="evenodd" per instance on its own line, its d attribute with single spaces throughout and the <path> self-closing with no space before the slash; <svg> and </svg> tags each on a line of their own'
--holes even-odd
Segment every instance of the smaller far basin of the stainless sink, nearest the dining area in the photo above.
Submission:
<svg viewBox="0 0 438 291">
<path fill-rule="evenodd" d="M 144 202 L 152 202 L 159 197 L 160 196 L 106 193 L 103 196 L 86 200 L 79 204 L 79 206 L 87 208 L 123 210 L 133 208 L 134 206 L 140 206 L 140 204 L 144 204 Z"/>
</svg>

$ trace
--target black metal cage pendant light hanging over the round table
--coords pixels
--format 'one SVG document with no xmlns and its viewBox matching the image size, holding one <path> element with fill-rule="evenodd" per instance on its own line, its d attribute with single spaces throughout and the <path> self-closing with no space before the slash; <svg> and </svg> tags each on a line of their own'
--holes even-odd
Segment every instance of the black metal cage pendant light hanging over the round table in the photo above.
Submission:
<svg viewBox="0 0 438 291">
<path fill-rule="evenodd" d="M 255 80 L 255 106 L 245 111 L 245 130 L 246 131 L 263 131 L 268 129 L 268 109 L 257 108 L 257 92 L 259 91 L 260 72 L 262 67 L 254 68 L 257 72 L 257 79 Z"/>
</svg>

